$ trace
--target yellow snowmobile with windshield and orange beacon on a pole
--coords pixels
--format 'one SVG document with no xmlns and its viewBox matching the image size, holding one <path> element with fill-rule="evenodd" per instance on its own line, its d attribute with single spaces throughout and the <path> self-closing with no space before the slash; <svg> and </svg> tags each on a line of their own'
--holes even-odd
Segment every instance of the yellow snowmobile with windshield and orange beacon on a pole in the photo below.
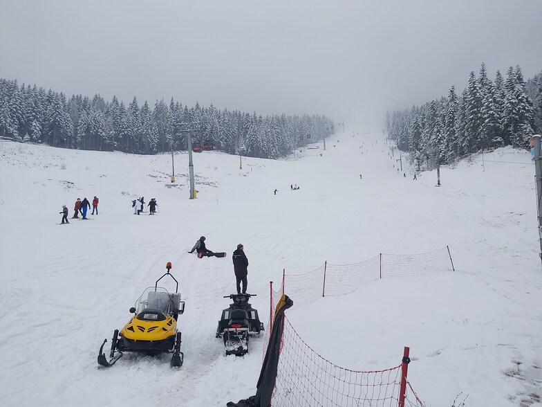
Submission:
<svg viewBox="0 0 542 407">
<path fill-rule="evenodd" d="M 185 302 L 180 300 L 179 283 L 169 273 L 171 262 L 166 264 L 167 273 L 156 280 L 154 287 L 143 291 L 130 308 L 134 314 L 119 332 L 115 329 L 111 340 L 109 360 L 103 353 L 104 340 L 98 354 L 98 364 L 109 367 L 122 357 L 122 352 L 142 352 L 146 354 L 173 353 L 171 366 L 183 365 L 183 352 L 180 352 L 181 334 L 178 331 L 177 318 L 185 311 Z M 175 293 L 158 287 L 158 282 L 169 275 L 176 282 Z"/>
</svg>

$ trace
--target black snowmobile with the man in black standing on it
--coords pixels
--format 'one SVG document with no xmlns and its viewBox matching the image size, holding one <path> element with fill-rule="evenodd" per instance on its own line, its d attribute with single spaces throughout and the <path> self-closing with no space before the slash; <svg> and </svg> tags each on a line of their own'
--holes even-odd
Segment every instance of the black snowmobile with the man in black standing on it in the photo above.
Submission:
<svg viewBox="0 0 542 407">
<path fill-rule="evenodd" d="M 233 300 L 230 308 L 222 311 L 221 320 L 218 321 L 216 337 L 224 339 L 226 354 L 243 356 L 248 353 L 248 338 L 252 334 L 263 331 L 258 311 L 252 308 L 248 299 L 256 294 L 230 294 L 224 298 Z"/>
</svg>

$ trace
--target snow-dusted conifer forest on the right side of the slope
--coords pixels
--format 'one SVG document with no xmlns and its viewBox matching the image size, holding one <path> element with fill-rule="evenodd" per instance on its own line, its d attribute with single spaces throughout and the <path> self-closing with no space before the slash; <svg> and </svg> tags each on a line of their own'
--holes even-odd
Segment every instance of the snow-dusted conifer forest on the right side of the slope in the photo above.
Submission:
<svg viewBox="0 0 542 407">
<path fill-rule="evenodd" d="M 511 66 L 506 78 L 497 71 L 491 80 L 482 64 L 459 95 L 452 86 L 447 97 L 388 112 L 386 127 L 418 169 L 505 145 L 527 148 L 530 136 L 542 132 L 542 72 L 525 82 L 521 68 Z"/>
</svg>

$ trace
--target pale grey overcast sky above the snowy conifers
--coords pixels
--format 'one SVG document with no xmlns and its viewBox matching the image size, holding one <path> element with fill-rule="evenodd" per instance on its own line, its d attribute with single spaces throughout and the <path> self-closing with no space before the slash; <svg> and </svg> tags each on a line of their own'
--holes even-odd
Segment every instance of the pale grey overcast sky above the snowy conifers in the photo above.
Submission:
<svg viewBox="0 0 542 407">
<path fill-rule="evenodd" d="M 542 0 L 3 0 L 0 78 L 259 114 L 382 122 L 518 64 L 542 70 Z M 380 128 L 380 127 L 379 127 Z"/>
</svg>

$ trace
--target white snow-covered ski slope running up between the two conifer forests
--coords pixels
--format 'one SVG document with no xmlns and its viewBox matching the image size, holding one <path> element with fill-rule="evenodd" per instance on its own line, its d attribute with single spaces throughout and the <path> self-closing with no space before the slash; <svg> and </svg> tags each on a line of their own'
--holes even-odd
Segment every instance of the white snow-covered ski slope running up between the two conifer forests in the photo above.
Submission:
<svg viewBox="0 0 542 407">
<path fill-rule="evenodd" d="M 428 406 L 518 406 L 542 395 L 542 271 L 534 167 L 504 148 L 424 172 L 390 158 L 382 138 L 339 133 L 327 150 L 288 160 L 194 154 L 132 156 L 0 143 L 0 387 L 3 406 L 225 406 L 253 395 L 263 337 L 243 358 L 214 337 L 223 295 L 234 291 L 231 253 L 243 243 L 252 305 L 267 325 L 269 282 L 325 260 L 449 245 L 455 273 L 389 278 L 348 296 L 287 312 L 319 354 L 354 370 L 398 365 L 411 347 L 409 380 Z M 320 156 L 322 154 L 322 156 Z M 404 158 L 404 157 L 403 157 Z M 491 162 L 489 162 L 491 161 Z M 501 161 L 496 163 L 494 161 Z M 395 164 L 395 168 L 393 165 Z M 359 179 L 362 174 L 363 179 Z M 300 189 L 290 190 L 296 183 Z M 273 195 L 277 188 L 277 195 Z M 100 198 L 100 215 L 71 219 L 77 197 Z M 158 201 L 133 215 L 131 201 Z M 59 225 L 62 204 L 71 224 Z M 224 259 L 187 251 L 200 235 Z M 98 349 L 129 319 L 142 291 L 165 272 L 186 310 L 182 368 L 125 354 L 98 368 Z M 173 288 L 167 282 L 165 287 Z M 277 284 L 278 286 L 278 284 Z M 295 304 L 295 296 L 292 296 Z"/>
</svg>

